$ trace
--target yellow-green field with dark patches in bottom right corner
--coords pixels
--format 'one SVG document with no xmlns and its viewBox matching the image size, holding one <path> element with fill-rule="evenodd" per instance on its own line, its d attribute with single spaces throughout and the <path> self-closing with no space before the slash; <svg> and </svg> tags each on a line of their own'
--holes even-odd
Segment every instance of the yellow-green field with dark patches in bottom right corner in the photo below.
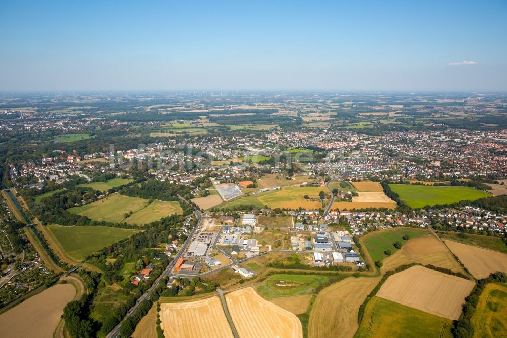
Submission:
<svg viewBox="0 0 507 338">
<path fill-rule="evenodd" d="M 507 283 L 486 285 L 470 322 L 474 337 L 507 336 Z"/>
</svg>

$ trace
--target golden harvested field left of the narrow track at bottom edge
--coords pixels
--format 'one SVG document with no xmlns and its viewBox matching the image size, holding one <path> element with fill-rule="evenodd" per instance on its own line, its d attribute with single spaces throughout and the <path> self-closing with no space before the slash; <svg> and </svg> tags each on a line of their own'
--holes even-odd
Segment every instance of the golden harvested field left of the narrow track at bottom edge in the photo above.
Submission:
<svg viewBox="0 0 507 338">
<path fill-rule="evenodd" d="M 161 303 L 165 337 L 233 337 L 219 297 L 185 303 Z"/>
</svg>

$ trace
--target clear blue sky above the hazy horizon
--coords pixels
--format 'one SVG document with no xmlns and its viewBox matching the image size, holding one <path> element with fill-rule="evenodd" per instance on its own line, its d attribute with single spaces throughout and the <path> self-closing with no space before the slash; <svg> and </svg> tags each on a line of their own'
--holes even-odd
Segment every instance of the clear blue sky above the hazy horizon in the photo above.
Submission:
<svg viewBox="0 0 507 338">
<path fill-rule="evenodd" d="M 505 0 L 4 0 L 0 90 L 507 91 L 505 18 Z"/>
</svg>

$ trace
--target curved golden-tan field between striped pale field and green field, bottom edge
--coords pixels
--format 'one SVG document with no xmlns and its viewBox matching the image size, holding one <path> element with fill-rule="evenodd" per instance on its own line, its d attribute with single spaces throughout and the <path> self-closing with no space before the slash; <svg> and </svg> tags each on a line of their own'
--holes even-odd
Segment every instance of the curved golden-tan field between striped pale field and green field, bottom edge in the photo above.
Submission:
<svg viewBox="0 0 507 338">
<path fill-rule="evenodd" d="M 379 281 L 380 278 L 349 277 L 320 291 L 310 313 L 308 336 L 332 337 L 337 330 L 340 337 L 354 336 L 359 328 L 359 307 Z"/>
</svg>

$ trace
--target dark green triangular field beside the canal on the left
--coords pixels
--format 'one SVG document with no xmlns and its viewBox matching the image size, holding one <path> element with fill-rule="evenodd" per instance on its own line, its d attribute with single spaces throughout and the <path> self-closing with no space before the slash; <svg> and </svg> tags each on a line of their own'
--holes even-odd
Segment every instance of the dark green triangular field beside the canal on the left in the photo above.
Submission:
<svg viewBox="0 0 507 338">
<path fill-rule="evenodd" d="M 78 260 L 112 243 L 123 240 L 139 230 L 111 228 L 106 226 L 48 225 L 63 250 Z"/>
</svg>

